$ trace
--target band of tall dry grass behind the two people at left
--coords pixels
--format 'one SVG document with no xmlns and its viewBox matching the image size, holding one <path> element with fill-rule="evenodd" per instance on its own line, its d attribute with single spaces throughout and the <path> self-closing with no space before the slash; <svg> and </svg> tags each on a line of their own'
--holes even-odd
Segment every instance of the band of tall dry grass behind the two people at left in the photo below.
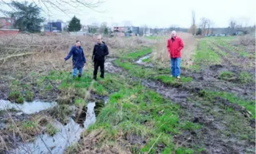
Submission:
<svg viewBox="0 0 256 154">
<path fill-rule="evenodd" d="M 96 36 L 71 36 L 71 35 L 50 35 L 41 36 L 38 34 L 18 34 L 16 36 L 0 37 L 0 60 L 6 60 L 17 54 L 33 52 L 56 52 L 68 50 L 76 40 L 81 41 L 85 53 L 92 52 L 96 42 Z M 134 49 L 140 45 L 149 46 L 154 41 L 145 38 L 103 38 L 109 46 L 109 55 L 115 55 L 117 49 Z"/>
</svg>

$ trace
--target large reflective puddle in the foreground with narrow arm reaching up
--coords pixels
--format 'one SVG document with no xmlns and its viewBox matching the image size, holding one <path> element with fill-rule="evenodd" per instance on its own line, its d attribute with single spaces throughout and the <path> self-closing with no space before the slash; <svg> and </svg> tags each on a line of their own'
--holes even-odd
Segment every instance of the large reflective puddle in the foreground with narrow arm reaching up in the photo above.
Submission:
<svg viewBox="0 0 256 154">
<path fill-rule="evenodd" d="M 67 123 L 67 125 L 62 125 L 56 120 L 55 126 L 59 129 L 59 132 L 56 135 L 51 137 L 47 134 L 41 134 L 35 138 L 34 142 L 21 143 L 17 149 L 12 150 L 10 153 L 64 153 L 64 150 L 68 146 L 80 139 L 80 134 L 83 130 L 96 121 L 94 113 L 95 103 L 90 102 L 87 107 L 86 120 L 83 123 L 85 126 L 84 128 L 81 128 L 79 123 L 74 122 L 72 118 L 69 118 L 69 123 Z"/>
</svg>

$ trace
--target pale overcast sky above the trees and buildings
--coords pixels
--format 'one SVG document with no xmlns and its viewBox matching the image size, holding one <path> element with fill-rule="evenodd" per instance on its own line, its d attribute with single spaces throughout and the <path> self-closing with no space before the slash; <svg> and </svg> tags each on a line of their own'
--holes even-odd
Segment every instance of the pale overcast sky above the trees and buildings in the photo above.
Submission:
<svg viewBox="0 0 256 154">
<path fill-rule="evenodd" d="M 124 21 L 130 21 L 134 26 L 148 25 L 152 28 L 161 28 L 177 25 L 187 28 L 192 22 L 192 10 L 196 12 L 197 24 L 202 17 L 211 19 L 215 27 L 227 27 L 231 18 L 248 25 L 255 23 L 255 0 L 105 0 L 96 9 L 105 11 L 103 13 L 92 11 L 82 5 L 77 6 L 76 9 L 70 7 L 67 14 L 48 8 L 51 11 L 50 19 L 69 21 L 73 15 L 76 15 L 82 24 L 108 22 L 109 26 L 113 24 L 122 26 Z M 68 7 L 63 3 L 63 8 Z"/>
</svg>

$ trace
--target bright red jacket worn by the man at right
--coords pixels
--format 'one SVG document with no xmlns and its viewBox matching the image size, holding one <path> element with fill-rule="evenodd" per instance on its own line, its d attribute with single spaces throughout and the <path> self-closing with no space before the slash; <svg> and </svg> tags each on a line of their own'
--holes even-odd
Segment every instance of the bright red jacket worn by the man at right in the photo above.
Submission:
<svg viewBox="0 0 256 154">
<path fill-rule="evenodd" d="M 178 36 L 176 36 L 176 38 L 174 38 L 174 41 L 170 39 L 168 39 L 167 41 L 167 49 L 170 55 L 170 58 L 180 58 L 180 51 L 182 51 L 184 46 L 184 43 L 182 41 L 182 39 Z"/>
</svg>

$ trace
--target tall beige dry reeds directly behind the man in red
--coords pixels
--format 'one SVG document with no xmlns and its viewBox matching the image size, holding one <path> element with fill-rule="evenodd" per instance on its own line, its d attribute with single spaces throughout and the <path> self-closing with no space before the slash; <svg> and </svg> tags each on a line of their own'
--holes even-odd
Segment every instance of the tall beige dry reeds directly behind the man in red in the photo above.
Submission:
<svg viewBox="0 0 256 154">
<path fill-rule="evenodd" d="M 190 66 L 192 65 L 191 57 L 196 48 L 196 38 L 192 34 L 184 32 L 178 32 L 177 35 L 180 36 L 184 42 L 184 48 L 182 50 L 182 66 Z M 155 48 L 153 49 L 153 61 L 161 67 L 170 66 L 170 56 L 167 51 L 167 39 L 169 37 L 170 35 L 158 39 L 157 45 L 155 45 Z"/>
</svg>

